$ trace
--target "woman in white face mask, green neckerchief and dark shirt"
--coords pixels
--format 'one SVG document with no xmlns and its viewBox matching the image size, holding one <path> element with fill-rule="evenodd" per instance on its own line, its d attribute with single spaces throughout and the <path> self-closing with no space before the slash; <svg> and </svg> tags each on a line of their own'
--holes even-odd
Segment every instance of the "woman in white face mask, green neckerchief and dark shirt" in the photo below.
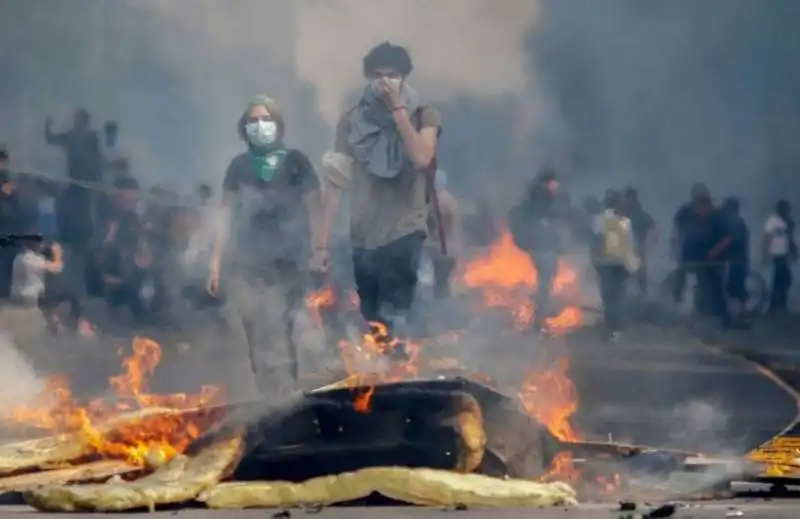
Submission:
<svg viewBox="0 0 800 519">
<path fill-rule="evenodd" d="M 218 296 L 224 272 L 231 324 L 243 328 L 256 385 L 271 394 L 292 391 L 297 382 L 294 320 L 309 271 L 320 268 L 325 258 L 319 251 L 327 250 L 317 232 L 317 175 L 303 152 L 285 146 L 284 128 L 277 105 L 265 96 L 254 98 L 239 118 L 247 150 L 225 174 L 207 285 Z"/>
</svg>

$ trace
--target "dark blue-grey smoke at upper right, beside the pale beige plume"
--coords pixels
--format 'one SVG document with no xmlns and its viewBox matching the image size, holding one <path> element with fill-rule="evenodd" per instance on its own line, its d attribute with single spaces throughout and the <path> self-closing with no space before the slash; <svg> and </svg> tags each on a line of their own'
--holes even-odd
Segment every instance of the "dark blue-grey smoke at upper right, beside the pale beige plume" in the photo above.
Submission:
<svg viewBox="0 0 800 519">
<path fill-rule="evenodd" d="M 557 117 L 537 129 L 566 128 L 584 187 L 638 185 L 666 212 L 693 181 L 750 209 L 792 185 L 798 155 L 781 135 L 800 121 L 796 2 L 565 0 L 542 12 L 534 79 Z"/>
</svg>

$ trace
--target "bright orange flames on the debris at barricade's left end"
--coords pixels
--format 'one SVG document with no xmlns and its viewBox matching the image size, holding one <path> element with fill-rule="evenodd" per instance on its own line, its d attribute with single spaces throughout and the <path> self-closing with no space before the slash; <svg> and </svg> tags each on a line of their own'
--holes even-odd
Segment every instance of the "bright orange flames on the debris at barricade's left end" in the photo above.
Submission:
<svg viewBox="0 0 800 519">
<path fill-rule="evenodd" d="M 149 418 L 140 426 L 119 429 L 105 437 L 98 425 L 117 414 L 163 407 L 175 410 L 195 409 L 222 403 L 224 392 L 216 386 L 203 386 L 197 394 L 159 395 L 149 392 L 148 379 L 161 361 L 161 347 L 151 339 L 135 338 L 133 353 L 122 361 L 123 372 L 109 379 L 114 401 L 95 399 L 82 405 L 70 390 L 66 377 L 50 377 L 33 405 L 13 408 L 3 413 L 9 424 L 36 427 L 54 434 L 79 433 L 98 455 L 124 459 L 144 466 L 153 459 L 167 461 L 183 452 L 209 425 L 192 415 L 164 415 Z"/>
</svg>

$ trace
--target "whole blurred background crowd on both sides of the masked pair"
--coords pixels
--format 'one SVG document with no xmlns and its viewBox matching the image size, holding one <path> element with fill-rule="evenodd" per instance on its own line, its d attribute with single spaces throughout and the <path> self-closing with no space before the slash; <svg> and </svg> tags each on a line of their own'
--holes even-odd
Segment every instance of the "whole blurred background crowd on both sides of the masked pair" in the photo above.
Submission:
<svg viewBox="0 0 800 519">
<path fill-rule="evenodd" d="M 0 250 L 0 298 L 38 305 L 54 331 L 70 327 L 93 333 L 84 314 L 87 297 L 102 298 L 110 308 L 135 319 L 154 321 L 169 321 L 177 303 L 202 305 L 208 297 L 215 239 L 212 188 L 202 185 L 188 198 L 162 186 L 145 192 L 132 174 L 131 156 L 120 143 L 119 130 L 117 123 L 107 122 L 99 134 L 83 109 L 76 110 L 72 126 L 64 132 L 54 132 L 48 119 L 44 137 L 63 150 L 66 180 L 15 173 L 9 150 L 0 150 L 0 233 L 42 237 Z M 226 180 L 225 190 L 232 186 L 233 180 Z M 484 207 L 479 218 L 468 219 L 462 229 L 459 203 L 441 170 L 435 187 L 440 214 L 434 218 L 433 208 L 429 210 L 427 232 L 432 239 L 425 241 L 419 263 L 420 277 L 431 278 L 427 283 L 442 298 L 449 295 L 460 235 L 480 244 L 480 235 L 493 235 L 497 222 L 489 221 L 491 212 Z M 580 207 L 563 200 L 559 178 L 547 169 L 508 215 L 517 246 L 530 254 L 538 270 L 536 325 L 544 328 L 552 313 L 548 308 L 554 307 L 550 285 L 564 252 L 566 229 L 568 240 L 578 238 L 588 246 L 606 328 L 614 337 L 623 328 L 628 287 L 635 287 L 641 298 L 650 297 L 648 260 L 658 226 L 633 187 L 609 189 L 602 199 L 587 197 Z M 450 241 L 449 253 L 439 250 L 438 221 Z M 476 226 L 486 229 L 481 232 Z M 776 204 L 761 234 L 762 259 L 771 272 L 768 311 L 780 314 L 787 310 L 798 258 L 787 200 Z M 745 325 L 751 246 L 739 199 L 715 204 L 705 185 L 693 186 L 689 200 L 675 212 L 669 246 L 676 266 L 669 278 L 672 302 L 683 301 L 687 277 L 694 276 L 698 312 L 718 317 L 726 327 Z M 263 253 L 259 257 L 263 260 Z M 367 313 L 376 319 L 374 309 Z"/>
</svg>

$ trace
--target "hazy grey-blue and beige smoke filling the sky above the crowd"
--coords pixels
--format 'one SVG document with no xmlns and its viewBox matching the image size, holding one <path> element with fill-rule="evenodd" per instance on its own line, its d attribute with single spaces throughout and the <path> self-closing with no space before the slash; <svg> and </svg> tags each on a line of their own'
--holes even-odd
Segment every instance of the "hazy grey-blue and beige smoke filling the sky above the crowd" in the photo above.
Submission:
<svg viewBox="0 0 800 519">
<path fill-rule="evenodd" d="M 317 158 L 361 57 L 391 39 L 444 112 L 441 161 L 457 191 L 508 205 L 549 163 L 577 192 L 632 183 L 673 204 L 705 180 L 769 206 L 800 162 L 787 137 L 800 121 L 798 11 L 793 0 L 6 0 L 0 141 L 17 166 L 57 172 L 42 119 L 82 104 L 97 125 L 121 121 L 141 177 L 218 182 L 240 149 L 237 113 L 266 91 L 291 143 Z"/>
</svg>

